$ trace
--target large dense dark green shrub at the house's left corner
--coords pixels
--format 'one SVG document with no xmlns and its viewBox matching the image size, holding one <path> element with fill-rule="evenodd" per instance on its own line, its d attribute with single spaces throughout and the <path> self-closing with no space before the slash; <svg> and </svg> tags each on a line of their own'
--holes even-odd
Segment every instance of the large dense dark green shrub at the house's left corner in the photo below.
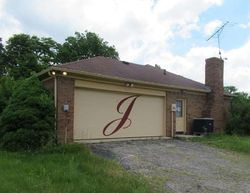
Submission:
<svg viewBox="0 0 250 193">
<path fill-rule="evenodd" d="M 0 146 L 33 150 L 53 140 L 52 97 L 36 77 L 20 81 L 0 118 Z"/>
</svg>

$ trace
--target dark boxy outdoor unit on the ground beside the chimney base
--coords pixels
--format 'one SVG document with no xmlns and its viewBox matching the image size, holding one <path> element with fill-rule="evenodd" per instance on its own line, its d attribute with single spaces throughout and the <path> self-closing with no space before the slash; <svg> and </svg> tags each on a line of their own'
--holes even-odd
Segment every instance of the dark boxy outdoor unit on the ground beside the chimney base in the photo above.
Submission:
<svg viewBox="0 0 250 193">
<path fill-rule="evenodd" d="M 213 118 L 195 118 L 193 119 L 192 133 L 193 134 L 208 134 L 214 131 Z"/>
</svg>

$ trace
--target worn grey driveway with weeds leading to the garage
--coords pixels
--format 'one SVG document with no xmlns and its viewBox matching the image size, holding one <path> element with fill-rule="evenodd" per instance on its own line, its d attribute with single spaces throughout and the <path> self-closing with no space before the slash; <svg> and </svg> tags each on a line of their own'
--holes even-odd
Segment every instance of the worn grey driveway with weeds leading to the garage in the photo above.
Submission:
<svg viewBox="0 0 250 193">
<path fill-rule="evenodd" d="M 90 144 L 166 192 L 250 193 L 250 156 L 180 140 Z"/>
</svg>

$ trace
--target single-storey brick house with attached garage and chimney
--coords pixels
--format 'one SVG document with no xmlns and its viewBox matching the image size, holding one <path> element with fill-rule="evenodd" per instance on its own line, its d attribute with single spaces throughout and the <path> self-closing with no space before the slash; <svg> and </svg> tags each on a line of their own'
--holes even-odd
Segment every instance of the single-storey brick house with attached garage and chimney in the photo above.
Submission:
<svg viewBox="0 0 250 193">
<path fill-rule="evenodd" d="M 206 59 L 205 84 L 150 65 L 94 57 L 50 67 L 39 78 L 54 93 L 58 141 L 171 137 L 191 134 L 194 118 L 225 127 L 230 96 L 223 65 Z"/>
</svg>

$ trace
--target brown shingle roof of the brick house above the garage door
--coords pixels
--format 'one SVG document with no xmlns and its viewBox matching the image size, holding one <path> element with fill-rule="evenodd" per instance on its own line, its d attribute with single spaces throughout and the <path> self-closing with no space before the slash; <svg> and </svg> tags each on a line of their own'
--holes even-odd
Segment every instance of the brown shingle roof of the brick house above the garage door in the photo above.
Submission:
<svg viewBox="0 0 250 193">
<path fill-rule="evenodd" d="M 170 73 L 166 70 L 149 65 L 139 65 L 102 56 L 65 63 L 57 66 L 79 72 L 101 74 L 129 80 L 176 86 L 187 89 L 209 91 L 204 84 Z"/>
</svg>

